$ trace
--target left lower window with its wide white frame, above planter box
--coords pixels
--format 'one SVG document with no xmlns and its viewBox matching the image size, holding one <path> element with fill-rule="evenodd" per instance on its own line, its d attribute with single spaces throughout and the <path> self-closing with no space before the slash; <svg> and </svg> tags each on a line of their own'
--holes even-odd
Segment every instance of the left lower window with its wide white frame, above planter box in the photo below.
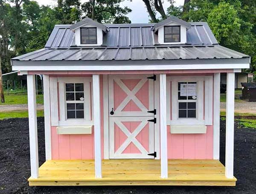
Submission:
<svg viewBox="0 0 256 194">
<path fill-rule="evenodd" d="M 91 77 L 60 77 L 59 126 L 91 125 Z"/>
</svg>

